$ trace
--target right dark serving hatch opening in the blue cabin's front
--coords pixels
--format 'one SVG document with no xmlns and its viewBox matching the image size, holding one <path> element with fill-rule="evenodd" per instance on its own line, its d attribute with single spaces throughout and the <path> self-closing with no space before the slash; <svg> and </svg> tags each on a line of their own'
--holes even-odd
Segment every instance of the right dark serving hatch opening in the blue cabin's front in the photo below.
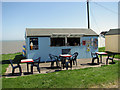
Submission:
<svg viewBox="0 0 120 90">
<path fill-rule="evenodd" d="M 80 38 L 67 38 L 67 46 L 80 46 Z"/>
</svg>

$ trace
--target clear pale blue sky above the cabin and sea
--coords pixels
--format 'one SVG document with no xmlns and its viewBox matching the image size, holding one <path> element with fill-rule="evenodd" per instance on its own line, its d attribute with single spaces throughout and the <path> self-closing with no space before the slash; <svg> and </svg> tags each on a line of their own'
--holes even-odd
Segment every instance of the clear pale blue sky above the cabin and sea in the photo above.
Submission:
<svg viewBox="0 0 120 90">
<path fill-rule="evenodd" d="M 90 28 L 118 27 L 118 2 L 90 2 Z M 25 40 L 26 28 L 87 28 L 86 2 L 2 2 L 2 40 Z"/>
</svg>

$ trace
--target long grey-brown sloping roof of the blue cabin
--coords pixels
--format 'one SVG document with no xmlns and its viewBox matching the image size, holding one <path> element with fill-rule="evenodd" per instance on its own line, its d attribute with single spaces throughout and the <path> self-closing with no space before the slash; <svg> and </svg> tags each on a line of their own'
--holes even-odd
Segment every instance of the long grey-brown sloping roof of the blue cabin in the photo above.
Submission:
<svg viewBox="0 0 120 90">
<path fill-rule="evenodd" d="M 38 36 L 51 36 L 55 34 L 61 35 L 87 35 L 87 36 L 98 36 L 92 29 L 80 29 L 80 28 L 26 28 L 27 37 L 38 37 Z"/>
</svg>

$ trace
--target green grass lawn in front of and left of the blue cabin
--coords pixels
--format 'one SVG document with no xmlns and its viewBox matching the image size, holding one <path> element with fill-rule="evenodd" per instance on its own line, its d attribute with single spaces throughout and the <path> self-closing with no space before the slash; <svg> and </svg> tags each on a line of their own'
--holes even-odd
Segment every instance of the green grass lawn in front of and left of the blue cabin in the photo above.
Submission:
<svg viewBox="0 0 120 90">
<path fill-rule="evenodd" d="M 17 57 L 16 57 L 17 56 Z M 8 67 L 9 59 L 19 60 L 21 53 L 2 55 L 2 74 Z M 17 78 L 2 78 L 2 88 L 90 88 L 104 87 L 118 81 L 118 61 L 102 67 L 59 71 Z"/>
</svg>

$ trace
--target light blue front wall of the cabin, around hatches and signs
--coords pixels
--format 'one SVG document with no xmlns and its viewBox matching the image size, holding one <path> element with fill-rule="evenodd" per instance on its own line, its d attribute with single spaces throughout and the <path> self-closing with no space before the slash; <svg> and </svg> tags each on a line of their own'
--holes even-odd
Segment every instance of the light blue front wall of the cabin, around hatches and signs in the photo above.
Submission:
<svg viewBox="0 0 120 90">
<path fill-rule="evenodd" d="M 34 38 L 36 38 L 36 37 L 34 37 Z M 37 57 L 41 57 L 41 61 L 49 61 L 50 60 L 49 54 L 54 54 L 54 55 L 59 56 L 59 54 L 62 53 L 62 49 L 71 49 L 71 54 L 73 54 L 74 52 L 78 52 L 79 53 L 78 59 L 91 58 L 91 52 L 98 51 L 98 47 L 97 47 L 97 49 L 95 49 L 94 46 L 92 46 L 90 43 L 89 44 L 90 51 L 87 51 L 88 44 L 86 43 L 86 45 L 82 45 L 83 40 L 90 40 L 91 41 L 91 38 L 98 39 L 97 36 L 81 37 L 80 38 L 80 42 L 81 42 L 80 46 L 51 47 L 50 46 L 50 37 L 38 37 L 39 49 L 38 50 L 30 50 L 30 43 L 29 43 L 30 37 L 28 37 L 28 38 L 26 38 L 27 58 L 35 59 Z"/>
</svg>

